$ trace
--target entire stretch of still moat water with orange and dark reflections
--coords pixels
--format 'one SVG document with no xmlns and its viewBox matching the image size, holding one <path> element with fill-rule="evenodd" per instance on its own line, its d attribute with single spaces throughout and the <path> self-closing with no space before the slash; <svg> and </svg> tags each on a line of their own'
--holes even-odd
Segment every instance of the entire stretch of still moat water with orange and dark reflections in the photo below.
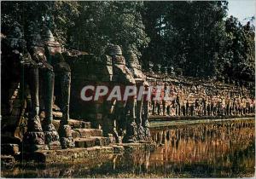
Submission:
<svg viewBox="0 0 256 179">
<path fill-rule="evenodd" d="M 3 177 L 252 177 L 254 119 L 152 129 L 154 152 L 111 155 L 90 164 L 15 165 Z"/>
</svg>

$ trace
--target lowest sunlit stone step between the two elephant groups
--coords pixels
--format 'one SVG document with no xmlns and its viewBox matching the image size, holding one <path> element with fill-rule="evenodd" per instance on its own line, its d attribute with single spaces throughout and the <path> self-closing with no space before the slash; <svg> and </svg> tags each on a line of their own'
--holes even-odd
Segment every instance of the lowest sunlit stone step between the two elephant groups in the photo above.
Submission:
<svg viewBox="0 0 256 179">
<path fill-rule="evenodd" d="M 88 138 L 74 139 L 75 147 L 95 147 L 95 146 L 108 146 L 110 139 L 103 136 L 92 136 Z"/>
</svg>

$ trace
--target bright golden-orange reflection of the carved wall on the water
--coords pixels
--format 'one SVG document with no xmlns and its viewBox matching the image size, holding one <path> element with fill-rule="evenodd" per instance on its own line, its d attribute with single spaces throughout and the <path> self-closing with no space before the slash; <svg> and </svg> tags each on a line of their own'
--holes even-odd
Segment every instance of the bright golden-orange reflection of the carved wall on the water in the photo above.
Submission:
<svg viewBox="0 0 256 179">
<path fill-rule="evenodd" d="M 245 149 L 254 140 L 252 120 L 221 124 L 195 124 L 177 129 L 153 130 L 154 141 L 162 144 L 152 153 L 151 161 L 212 161 L 224 153 Z"/>
</svg>

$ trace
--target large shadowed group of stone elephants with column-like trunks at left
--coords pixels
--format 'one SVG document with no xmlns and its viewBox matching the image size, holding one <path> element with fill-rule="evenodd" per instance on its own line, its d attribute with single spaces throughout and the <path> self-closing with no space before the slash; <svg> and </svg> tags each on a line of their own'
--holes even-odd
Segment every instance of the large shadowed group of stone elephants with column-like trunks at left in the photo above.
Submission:
<svg viewBox="0 0 256 179">
<path fill-rule="evenodd" d="M 71 70 L 61 55 L 61 44 L 55 41 L 49 27 L 35 20 L 28 22 L 27 31 L 22 32 L 20 24 L 14 22 L 2 39 L 2 47 L 4 61 L 20 62 L 20 69 L 13 69 L 20 71 L 20 95 L 25 94 L 26 86 L 31 95 L 31 101 L 26 102 L 29 116 L 24 147 L 27 150 L 73 147 L 71 128 L 67 123 Z M 60 84 L 56 88 L 61 90 L 56 96 L 61 101 L 62 112 L 58 132 L 52 124 L 55 84 Z M 39 101 L 39 90 L 42 90 L 44 101 Z M 43 124 L 39 118 L 40 110 L 45 113 Z"/>
</svg>

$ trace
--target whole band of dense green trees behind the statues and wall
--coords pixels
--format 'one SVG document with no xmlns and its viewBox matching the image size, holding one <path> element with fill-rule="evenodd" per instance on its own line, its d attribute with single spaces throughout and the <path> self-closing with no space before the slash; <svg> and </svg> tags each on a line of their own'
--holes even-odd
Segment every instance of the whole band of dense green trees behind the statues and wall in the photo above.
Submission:
<svg viewBox="0 0 256 179">
<path fill-rule="evenodd" d="M 2 32 L 49 19 L 67 49 L 100 55 L 108 43 L 185 76 L 254 82 L 254 26 L 227 17 L 227 2 L 2 2 Z M 25 31 L 26 32 L 26 31 Z M 26 34 L 25 34 L 26 35 Z"/>
</svg>

